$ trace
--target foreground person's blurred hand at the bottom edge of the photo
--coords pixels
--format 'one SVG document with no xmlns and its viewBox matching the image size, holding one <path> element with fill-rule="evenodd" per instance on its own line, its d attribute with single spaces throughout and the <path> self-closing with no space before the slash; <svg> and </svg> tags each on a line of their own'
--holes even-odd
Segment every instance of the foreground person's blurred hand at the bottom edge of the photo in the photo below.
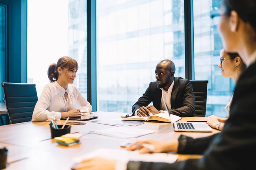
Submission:
<svg viewBox="0 0 256 170">
<path fill-rule="evenodd" d="M 115 170 L 117 160 L 95 157 L 79 163 L 76 170 Z"/>
</svg>

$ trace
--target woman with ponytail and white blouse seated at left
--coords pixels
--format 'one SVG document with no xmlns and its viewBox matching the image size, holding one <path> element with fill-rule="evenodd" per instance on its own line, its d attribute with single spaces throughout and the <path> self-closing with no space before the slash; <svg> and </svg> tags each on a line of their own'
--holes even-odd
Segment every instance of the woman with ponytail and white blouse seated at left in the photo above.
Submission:
<svg viewBox="0 0 256 170">
<path fill-rule="evenodd" d="M 92 106 L 73 85 L 78 63 L 70 57 L 61 57 L 48 68 L 48 83 L 35 105 L 32 122 L 41 122 L 90 113 Z M 79 106 L 79 108 L 76 108 Z"/>
</svg>

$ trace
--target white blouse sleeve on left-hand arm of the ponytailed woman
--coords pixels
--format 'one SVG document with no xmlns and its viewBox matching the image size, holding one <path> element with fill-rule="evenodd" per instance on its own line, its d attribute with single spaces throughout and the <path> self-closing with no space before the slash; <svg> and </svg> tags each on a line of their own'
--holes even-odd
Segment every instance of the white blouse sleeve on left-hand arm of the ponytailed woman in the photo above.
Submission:
<svg viewBox="0 0 256 170">
<path fill-rule="evenodd" d="M 61 119 L 61 112 L 48 111 L 50 101 L 52 98 L 51 89 L 49 85 L 44 87 L 44 90 L 35 105 L 35 109 L 32 115 L 32 122 L 50 121 L 54 118 L 57 120 Z"/>
</svg>

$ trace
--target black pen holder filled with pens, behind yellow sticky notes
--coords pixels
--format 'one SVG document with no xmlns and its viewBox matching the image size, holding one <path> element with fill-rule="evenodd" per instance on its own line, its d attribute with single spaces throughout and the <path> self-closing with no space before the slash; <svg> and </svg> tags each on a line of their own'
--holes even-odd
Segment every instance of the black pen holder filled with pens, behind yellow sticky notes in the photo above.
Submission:
<svg viewBox="0 0 256 170">
<path fill-rule="evenodd" d="M 50 125 L 52 139 L 55 138 L 55 137 L 62 136 L 62 135 L 65 135 L 67 133 L 70 133 L 71 124 L 70 125 L 66 125 L 67 124 L 67 120 L 65 121 L 64 125 L 57 125 L 55 120 L 54 121 L 51 120 L 51 123 L 49 125 Z"/>
</svg>

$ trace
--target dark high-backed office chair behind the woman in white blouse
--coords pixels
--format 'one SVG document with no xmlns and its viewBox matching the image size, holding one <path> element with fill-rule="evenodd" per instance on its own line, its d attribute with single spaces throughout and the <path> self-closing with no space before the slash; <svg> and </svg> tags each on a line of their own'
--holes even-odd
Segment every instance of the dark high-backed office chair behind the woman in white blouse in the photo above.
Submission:
<svg viewBox="0 0 256 170">
<path fill-rule="evenodd" d="M 3 82 L 1 86 L 11 124 L 31 121 L 38 101 L 35 84 Z"/>
</svg>

